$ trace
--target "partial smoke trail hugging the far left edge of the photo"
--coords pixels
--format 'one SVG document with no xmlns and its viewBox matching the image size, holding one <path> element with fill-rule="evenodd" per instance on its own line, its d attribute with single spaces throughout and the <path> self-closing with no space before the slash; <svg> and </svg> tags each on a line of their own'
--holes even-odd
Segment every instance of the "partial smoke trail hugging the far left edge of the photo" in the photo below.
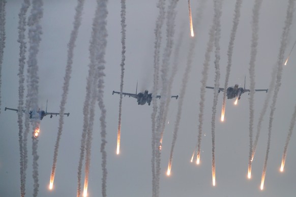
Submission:
<svg viewBox="0 0 296 197">
<path fill-rule="evenodd" d="M 5 48 L 5 6 L 6 1 L 0 2 L 0 109 L 1 109 L 1 86 L 2 86 L 2 63 L 3 63 L 3 54 Z M 1 112 L 0 112 L 1 113 Z"/>
</svg>

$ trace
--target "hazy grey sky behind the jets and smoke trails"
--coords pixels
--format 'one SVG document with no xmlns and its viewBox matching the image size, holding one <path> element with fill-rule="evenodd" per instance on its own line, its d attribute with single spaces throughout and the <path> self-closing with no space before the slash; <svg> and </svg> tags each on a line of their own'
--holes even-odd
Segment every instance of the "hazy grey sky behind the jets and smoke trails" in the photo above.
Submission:
<svg viewBox="0 0 296 197">
<path fill-rule="evenodd" d="M 153 88 L 154 29 L 158 16 L 158 1 L 130 0 L 126 4 L 126 65 L 124 92 L 134 93 L 138 81 L 138 91 Z M 0 114 L 0 196 L 20 195 L 20 164 L 18 144 L 17 114 L 4 111 L 5 107 L 17 108 L 18 105 L 18 13 L 22 1 L 7 1 L 6 4 L 6 47 L 2 65 L 2 106 Z M 76 1 L 44 1 L 44 13 L 41 20 L 42 40 L 38 53 L 39 66 L 39 103 L 45 109 L 48 99 L 48 111 L 59 112 L 67 60 L 67 43 L 73 28 Z M 166 8 L 168 1 L 166 3 Z M 191 1 L 192 17 L 195 19 L 199 1 Z M 223 87 L 227 65 L 227 48 L 234 0 L 223 1 L 220 39 L 220 87 Z M 234 41 L 232 67 L 228 84 L 238 83 L 249 88 L 249 61 L 251 52 L 251 20 L 254 1 L 243 1 L 238 32 Z M 286 17 L 288 1 L 263 1 L 259 15 L 259 38 L 255 62 L 256 89 L 268 88 L 274 64 L 278 60 L 282 30 Z M 39 154 L 39 196 L 75 196 L 77 189 L 77 168 L 80 139 L 83 124 L 83 102 L 85 97 L 87 65 L 90 62 L 88 46 L 91 38 L 92 22 L 96 1 L 85 1 L 82 23 L 74 49 L 73 72 L 66 104 L 63 134 L 57 157 L 54 188 L 48 189 L 54 144 L 57 135 L 58 117 L 45 117 L 41 121 L 38 144 Z M 123 97 L 121 154 L 116 155 L 116 135 L 119 112 L 119 95 L 112 91 L 120 90 L 121 63 L 121 26 L 120 1 L 109 1 L 107 17 L 106 69 L 104 78 L 104 102 L 107 110 L 107 195 L 108 196 L 152 196 L 152 106 L 138 106 L 132 97 Z M 175 39 L 184 31 L 180 50 L 178 72 L 173 82 L 172 94 L 180 94 L 185 72 L 190 38 L 187 1 L 179 1 L 176 7 Z M 28 13 L 29 14 L 29 11 Z M 295 14 L 295 13 L 294 13 Z M 213 90 L 205 94 L 204 121 L 201 140 L 201 163 L 196 166 L 190 162 L 198 136 L 198 113 L 200 100 L 201 71 L 204 61 L 209 28 L 212 25 L 214 7 L 207 1 L 199 26 L 195 26 L 196 47 L 187 91 L 184 95 L 182 119 L 174 154 L 171 176 L 166 176 L 172 132 L 177 112 L 178 100 L 172 100 L 169 106 L 162 152 L 160 196 L 294 196 L 296 172 L 296 137 L 292 136 L 284 173 L 279 172 L 283 148 L 290 120 L 296 104 L 294 84 L 296 83 L 296 51 L 291 53 L 288 64 L 282 73 L 281 88 L 278 95 L 271 149 L 267 164 L 264 190 L 260 190 L 261 173 L 267 147 L 270 106 L 264 116 L 262 130 L 252 165 L 252 178 L 247 179 L 249 156 L 249 95 L 242 95 L 238 106 L 234 100 L 226 101 L 225 121 L 220 122 L 223 94 L 218 96 L 216 115 L 216 186 L 212 186 L 212 137 L 211 117 Z M 293 18 L 295 19 L 295 17 Z M 193 21 L 194 23 L 194 21 Z M 185 24 L 185 25 L 184 25 Z M 288 36 L 285 58 L 295 41 L 295 21 L 293 20 Z M 165 25 L 164 25 L 165 27 Z M 165 48 L 165 28 L 162 29 Z M 27 32 L 26 32 L 27 36 Z M 162 59 L 162 55 L 160 56 Z M 173 58 L 173 57 L 172 57 Z M 171 59 L 172 59 L 171 58 Z M 171 60 L 172 61 L 172 60 Z M 26 71 L 26 70 L 25 70 Z M 214 85 L 214 53 L 211 54 L 207 84 Z M 159 88 L 160 89 L 160 88 Z M 153 92 L 154 93 L 154 92 Z M 159 92 L 155 92 L 158 93 Z M 254 135 L 266 93 L 256 92 L 254 101 Z M 158 101 L 159 102 L 159 101 Z M 96 118 L 93 132 L 89 196 L 101 196 L 101 153 L 100 153 L 100 111 L 96 105 Z M 33 193 L 32 178 L 32 140 L 28 139 L 28 168 L 26 171 L 26 196 Z M 82 173 L 84 175 L 84 172 Z"/>
</svg>

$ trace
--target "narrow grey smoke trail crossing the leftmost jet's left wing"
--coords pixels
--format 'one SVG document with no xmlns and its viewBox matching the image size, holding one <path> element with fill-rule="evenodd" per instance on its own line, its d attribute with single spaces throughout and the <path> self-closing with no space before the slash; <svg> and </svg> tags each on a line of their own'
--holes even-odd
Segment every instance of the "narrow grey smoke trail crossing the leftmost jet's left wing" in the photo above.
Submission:
<svg viewBox="0 0 296 197">
<path fill-rule="evenodd" d="M 25 42 L 25 26 L 26 26 L 26 12 L 29 7 L 29 0 L 24 0 L 20 12 L 18 14 L 18 42 L 19 46 L 19 68 L 18 68 L 18 142 L 19 142 L 19 153 L 20 153 L 20 195 L 25 195 L 25 170 L 24 170 L 24 142 L 23 142 L 23 105 L 24 105 L 24 65 L 25 65 L 25 53 L 26 53 L 26 42 Z"/>
</svg>

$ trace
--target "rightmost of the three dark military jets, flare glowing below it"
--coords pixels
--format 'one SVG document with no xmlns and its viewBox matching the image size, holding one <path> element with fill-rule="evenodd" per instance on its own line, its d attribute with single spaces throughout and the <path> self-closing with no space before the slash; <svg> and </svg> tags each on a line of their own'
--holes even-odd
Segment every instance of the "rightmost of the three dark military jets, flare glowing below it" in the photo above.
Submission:
<svg viewBox="0 0 296 197">
<path fill-rule="evenodd" d="M 214 87 L 205 86 L 205 88 L 214 89 Z M 224 88 L 219 87 L 218 92 L 224 91 Z M 267 92 L 268 89 L 255 89 L 255 91 L 265 91 Z M 226 89 L 226 96 L 228 99 L 238 97 L 238 99 L 241 99 L 241 95 L 245 92 L 250 92 L 249 89 L 246 89 L 246 77 L 245 77 L 245 85 L 244 87 L 239 87 L 239 84 L 235 84 L 234 86 L 230 86 Z"/>
</svg>

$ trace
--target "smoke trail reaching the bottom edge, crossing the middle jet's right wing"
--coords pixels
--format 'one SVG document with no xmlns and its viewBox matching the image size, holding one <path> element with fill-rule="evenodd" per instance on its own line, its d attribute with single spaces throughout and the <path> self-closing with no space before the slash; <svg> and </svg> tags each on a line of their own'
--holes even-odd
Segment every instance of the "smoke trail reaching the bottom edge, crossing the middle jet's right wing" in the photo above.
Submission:
<svg viewBox="0 0 296 197">
<path fill-rule="evenodd" d="M 155 34 L 155 42 L 154 42 L 154 80 L 153 80 L 153 93 L 156 94 L 158 91 L 158 71 L 159 71 L 159 58 L 160 58 L 160 44 L 161 44 L 161 28 L 163 25 L 163 21 L 165 18 L 165 0 L 159 0 L 157 3 L 157 7 L 159 8 L 159 15 L 156 20 L 156 27 L 154 29 Z M 155 155 L 157 151 L 157 138 L 155 134 L 156 130 L 156 113 L 157 113 L 157 103 L 155 98 L 152 99 L 153 104 L 153 111 L 151 114 L 152 119 L 152 159 L 151 159 L 151 166 L 152 166 L 152 195 L 156 196 L 156 174 L 155 174 Z"/>
</svg>

